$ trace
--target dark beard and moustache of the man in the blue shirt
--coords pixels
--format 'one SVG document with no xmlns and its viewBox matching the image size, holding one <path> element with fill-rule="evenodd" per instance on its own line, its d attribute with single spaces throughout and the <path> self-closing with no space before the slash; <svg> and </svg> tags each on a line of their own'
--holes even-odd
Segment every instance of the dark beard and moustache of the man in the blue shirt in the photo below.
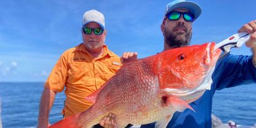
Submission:
<svg viewBox="0 0 256 128">
<path fill-rule="evenodd" d="M 184 29 L 186 29 L 184 26 L 177 26 L 177 27 L 183 27 Z M 176 29 L 177 27 L 175 27 L 174 29 Z M 164 32 L 165 32 L 164 42 L 168 44 L 169 47 L 172 47 L 172 48 L 184 47 L 189 45 L 191 36 L 192 36 L 192 31 L 188 31 L 188 29 L 186 29 L 185 34 L 177 33 L 177 35 L 175 35 L 172 32 L 167 32 L 166 30 Z"/>
</svg>

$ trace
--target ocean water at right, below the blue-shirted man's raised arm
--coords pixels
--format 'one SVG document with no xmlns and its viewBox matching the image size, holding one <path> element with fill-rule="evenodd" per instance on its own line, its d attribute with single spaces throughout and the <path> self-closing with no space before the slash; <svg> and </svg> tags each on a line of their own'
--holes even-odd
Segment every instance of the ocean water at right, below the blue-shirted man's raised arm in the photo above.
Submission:
<svg viewBox="0 0 256 128">
<path fill-rule="evenodd" d="M 216 91 L 212 113 L 226 124 L 229 120 L 241 125 L 256 124 L 256 84 Z"/>
</svg>

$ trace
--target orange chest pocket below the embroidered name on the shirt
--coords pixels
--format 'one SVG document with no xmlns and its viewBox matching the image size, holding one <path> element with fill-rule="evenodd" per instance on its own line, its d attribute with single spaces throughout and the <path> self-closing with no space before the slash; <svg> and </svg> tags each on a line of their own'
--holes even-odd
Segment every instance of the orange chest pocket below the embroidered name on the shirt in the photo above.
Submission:
<svg viewBox="0 0 256 128">
<path fill-rule="evenodd" d="M 90 70 L 87 63 L 70 63 L 68 81 L 72 84 L 79 84 L 79 81 L 86 81 L 86 79 L 89 79 L 89 75 Z"/>
</svg>

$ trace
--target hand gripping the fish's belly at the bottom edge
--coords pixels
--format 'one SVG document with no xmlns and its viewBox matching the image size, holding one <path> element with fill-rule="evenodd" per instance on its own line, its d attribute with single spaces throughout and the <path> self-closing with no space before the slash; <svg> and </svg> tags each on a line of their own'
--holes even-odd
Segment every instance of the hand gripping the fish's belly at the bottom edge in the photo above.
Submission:
<svg viewBox="0 0 256 128">
<path fill-rule="evenodd" d="M 109 113 L 108 116 L 105 116 L 101 121 L 100 125 L 105 128 L 113 128 L 115 127 L 115 115 L 113 113 Z"/>
</svg>

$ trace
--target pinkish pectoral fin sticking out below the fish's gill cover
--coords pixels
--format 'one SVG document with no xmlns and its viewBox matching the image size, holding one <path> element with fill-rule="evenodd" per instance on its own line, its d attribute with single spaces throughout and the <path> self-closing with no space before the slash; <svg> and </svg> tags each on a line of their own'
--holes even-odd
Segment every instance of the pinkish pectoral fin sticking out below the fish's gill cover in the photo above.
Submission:
<svg viewBox="0 0 256 128">
<path fill-rule="evenodd" d="M 173 108 L 176 111 L 182 112 L 184 109 L 189 108 L 192 111 L 195 111 L 191 106 L 189 106 L 188 103 L 186 103 L 184 100 L 179 99 L 178 97 L 175 97 L 174 95 L 171 95 L 166 99 L 166 105 L 167 106 L 173 106 Z"/>
</svg>

